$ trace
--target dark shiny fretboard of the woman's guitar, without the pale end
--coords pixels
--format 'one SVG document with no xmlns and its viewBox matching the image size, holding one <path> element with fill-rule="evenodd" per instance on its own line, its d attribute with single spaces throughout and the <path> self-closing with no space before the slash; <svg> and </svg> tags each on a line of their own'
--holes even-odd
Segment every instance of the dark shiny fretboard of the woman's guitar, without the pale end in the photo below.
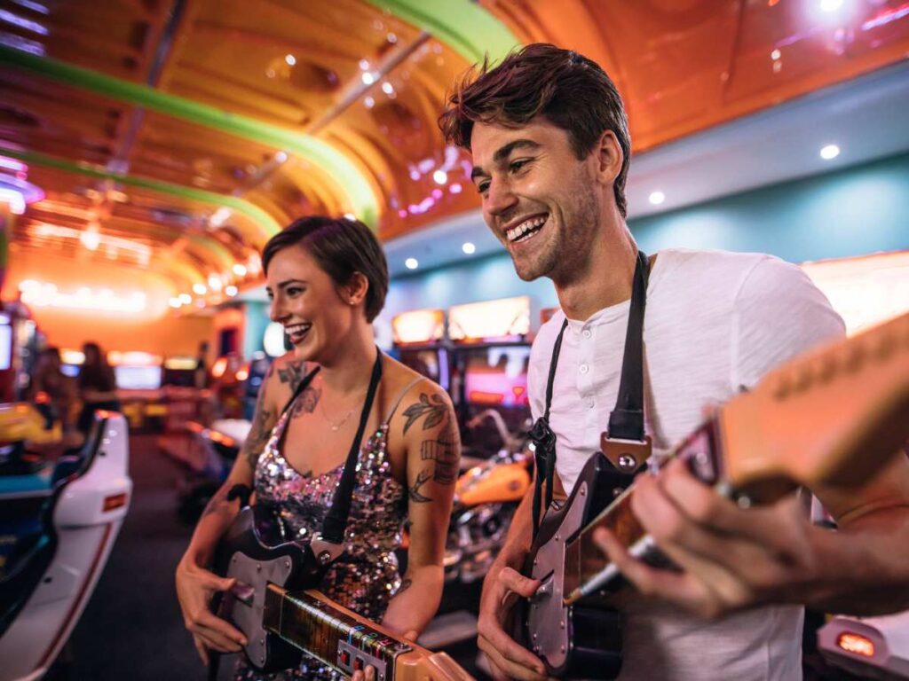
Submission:
<svg viewBox="0 0 909 681">
<path fill-rule="evenodd" d="M 341 672 L 346 671 L 339 665 L 342 647 L 339 644 L 342 643 L 383 660 L 388 669 L 385 681 L 395 677 L 397 656 L 413 650 L 412 646 L 370 627 L 366 620 L 316 597 L 314 592 L 285 592 L 275 585 L 269 585 L 265 594 L 264 625 Z M 353 661 L 348 661 L 348 664 L 353 664 Z"/>
</svg>

